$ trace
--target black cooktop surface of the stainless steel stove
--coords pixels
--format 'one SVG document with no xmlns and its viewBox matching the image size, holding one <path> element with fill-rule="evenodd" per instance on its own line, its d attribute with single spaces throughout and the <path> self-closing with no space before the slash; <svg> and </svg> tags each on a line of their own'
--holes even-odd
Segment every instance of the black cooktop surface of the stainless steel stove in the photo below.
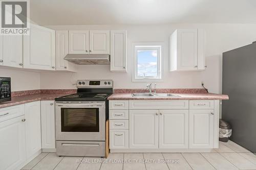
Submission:
<svg viewBox="0 0 256 170">
<path fill-rule="evenodd" d="M 110 93 L 76 93 L 56 98 L 55 101 L 105 101 Z"/>
</svg>

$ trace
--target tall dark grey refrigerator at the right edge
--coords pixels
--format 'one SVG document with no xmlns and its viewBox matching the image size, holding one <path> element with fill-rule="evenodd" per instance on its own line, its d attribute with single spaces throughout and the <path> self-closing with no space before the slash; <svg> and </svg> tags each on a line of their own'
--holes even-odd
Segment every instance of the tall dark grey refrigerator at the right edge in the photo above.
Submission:
<svg viewBox="0 0 256 170">
<path fill-rule="evenodd" d="M 222 118 L 232 127 L 231 140 L 256 153 L 256 43 L 223 53 Z"/>
</svg>

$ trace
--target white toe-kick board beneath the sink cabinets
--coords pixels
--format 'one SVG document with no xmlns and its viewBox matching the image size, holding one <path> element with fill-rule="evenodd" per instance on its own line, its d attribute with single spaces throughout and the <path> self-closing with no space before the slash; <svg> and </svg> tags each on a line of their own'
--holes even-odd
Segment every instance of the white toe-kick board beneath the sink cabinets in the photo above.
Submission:
<svg viewBox="0 0 256 170">
<path fill-rule="evenodd" d="M 110 149 L 110 153 L 217 153 L 214 149 Z"/>
</svg>

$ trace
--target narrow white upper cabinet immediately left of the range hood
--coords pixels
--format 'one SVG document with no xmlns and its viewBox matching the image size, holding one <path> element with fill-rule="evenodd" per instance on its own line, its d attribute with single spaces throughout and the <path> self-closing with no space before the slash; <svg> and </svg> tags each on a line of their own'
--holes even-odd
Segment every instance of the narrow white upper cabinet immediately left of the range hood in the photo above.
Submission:
<svg viewBox="0 0 256 170">
<path fill-rule="evenodd" d="M 75 65 L 64 60 L 69 51 L 68 44 L 68 31 L 56 31 L 56 70 L 75 72 Z"/>
</svg>

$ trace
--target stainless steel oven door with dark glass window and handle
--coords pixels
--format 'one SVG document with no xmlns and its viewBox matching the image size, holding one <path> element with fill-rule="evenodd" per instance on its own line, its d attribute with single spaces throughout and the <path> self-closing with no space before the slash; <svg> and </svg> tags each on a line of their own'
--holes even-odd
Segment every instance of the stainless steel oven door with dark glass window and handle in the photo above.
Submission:
<svg viewBox="0 0 256 170">
<path fill-rule="evenodd" d="M 104 102 L 56 102 L 56 140 L 105 141 Z"/>
</svg>

